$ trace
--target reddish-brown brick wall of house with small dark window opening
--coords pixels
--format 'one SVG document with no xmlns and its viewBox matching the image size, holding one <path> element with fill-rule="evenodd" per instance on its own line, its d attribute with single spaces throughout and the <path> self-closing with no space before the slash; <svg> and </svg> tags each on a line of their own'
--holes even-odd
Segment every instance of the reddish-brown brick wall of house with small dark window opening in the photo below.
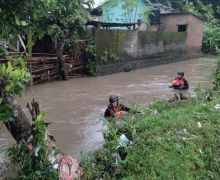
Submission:
<svg viewBox="0 0 220 180">
<path fill-rule="evenodd" d="M 178 25 L 187 25 L 186 50 L 200 52 L 202 46 L 204 21 L 192 14 L 161 15 L 161 30 L 177 32 Z"/>
</svg>

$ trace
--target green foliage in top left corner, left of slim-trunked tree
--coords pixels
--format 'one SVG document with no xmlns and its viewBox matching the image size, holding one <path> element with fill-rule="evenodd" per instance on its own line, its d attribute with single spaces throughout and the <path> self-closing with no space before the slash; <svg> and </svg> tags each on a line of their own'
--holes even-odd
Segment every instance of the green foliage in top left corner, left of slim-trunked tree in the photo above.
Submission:
<svg viewBox="0 0 220 180">
<path fill-rule="evenodd" d="M 28 51 L 32 51 L 32 29 L 37 30 L 39 14 L 56 0 L 0 0 L 0 37 L 9 40 L 28 36 Z M 21 39 L 21 38 L 20 38 Z"/>
</svg>

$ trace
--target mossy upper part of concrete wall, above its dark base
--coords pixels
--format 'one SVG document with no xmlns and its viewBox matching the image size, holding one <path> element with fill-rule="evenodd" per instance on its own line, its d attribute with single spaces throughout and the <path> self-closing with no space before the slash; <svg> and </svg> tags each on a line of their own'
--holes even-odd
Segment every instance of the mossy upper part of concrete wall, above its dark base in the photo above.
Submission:
<svg viewBox="0 0 220 180">
<path fill-rule="evenodd" d="M 98 61 L 105 50 L 117 54 L 122 61 L 186 50 L 186 33 L 178 32 L 96 30 L 95 40 Z"/>
</svg>

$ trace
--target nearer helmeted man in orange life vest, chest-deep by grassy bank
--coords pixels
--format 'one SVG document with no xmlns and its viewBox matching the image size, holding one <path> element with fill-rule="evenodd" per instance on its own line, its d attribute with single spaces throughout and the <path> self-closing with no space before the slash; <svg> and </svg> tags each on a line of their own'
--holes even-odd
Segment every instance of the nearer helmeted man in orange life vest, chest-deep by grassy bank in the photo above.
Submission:
<svg viewBox="0 0 220 180">
<path fill-rule="evenodd" d="M 110 104 L 105 110 L 105 117 L 121 117 L 124 112 L 130 111 L 130 109 L 122 104 L 119 104 L 119 98 L 117 95 L 112 94 L 109 97 Z"/>
</svg>

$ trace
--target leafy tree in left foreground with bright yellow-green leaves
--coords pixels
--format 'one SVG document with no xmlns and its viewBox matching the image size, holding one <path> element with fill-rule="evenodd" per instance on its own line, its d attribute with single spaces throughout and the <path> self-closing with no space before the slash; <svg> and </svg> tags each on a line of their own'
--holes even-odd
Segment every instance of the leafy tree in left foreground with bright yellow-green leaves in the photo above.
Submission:
<svg viewBox="0 0 220 180">
<path fill-rule="evenodd" d="M 30 121 L 14 98 L 25 90 L 30 79 L 26 61 L 22 58 L 0 65 L 0 122 L 4 122 L 17 142 L 9 148 L 8 156 L 12 164 L 20 167 L 17 179 L 59 179 L 59 172 L 49 161 L 52 151 L 50 141 L 45 139 L 44 113 L 36 113 L 34 117 L 36 110 L 32 109 Z M 37 157 L 33 156 L 36 151 L 28 145 L 40 148 Z"/>
</svg>

